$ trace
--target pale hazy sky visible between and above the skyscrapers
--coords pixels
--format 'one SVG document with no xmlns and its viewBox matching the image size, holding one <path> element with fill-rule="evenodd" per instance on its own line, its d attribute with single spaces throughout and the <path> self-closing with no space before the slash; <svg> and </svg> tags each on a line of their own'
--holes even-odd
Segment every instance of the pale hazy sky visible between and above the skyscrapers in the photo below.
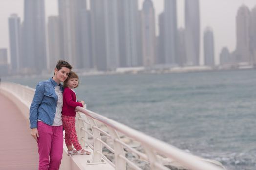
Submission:
<svg viewBox="0 0 256 170">
<path fill-rule="evenodd" d="M 58 0 L 45 0 L 46 16 L 57 15 Z M 144 0 L 139 0 L 141 9 Z M 156 18 L 163 11 L 164 0 L 152 0 L 155 6 Z M 8 48 L 9 32 L 8 17 L 17 13 L 23 21 L 24 0 L 0 0 L 0 48 Z M 207 26 L 213 29 L 215 38 L 215 59 L 219 63 L 219 53 L 223 46 L 233 51 L 236 46 L 235 17 L 238 8 L 245 4 L 251 10 L 256 7 L 256 0 L 200 0 L 201 16 L 201 63 L 203 62 L 203 31 Z M 177 0 L 178 27 L 184 27 L 184 0 Z"/>
</svg>

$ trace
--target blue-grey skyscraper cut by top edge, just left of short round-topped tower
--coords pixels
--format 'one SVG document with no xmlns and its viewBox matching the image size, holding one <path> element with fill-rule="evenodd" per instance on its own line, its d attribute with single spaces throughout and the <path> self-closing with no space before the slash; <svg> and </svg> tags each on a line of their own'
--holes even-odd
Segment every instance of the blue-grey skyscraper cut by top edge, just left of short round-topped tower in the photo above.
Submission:
<svg viewBox="0 0 256 170">
<path fill-rule="evenodd" d="M 199 0 L 185 0 L 185 29 L 187 65 L 199 65 L 200 10 Z"/>
</svg>

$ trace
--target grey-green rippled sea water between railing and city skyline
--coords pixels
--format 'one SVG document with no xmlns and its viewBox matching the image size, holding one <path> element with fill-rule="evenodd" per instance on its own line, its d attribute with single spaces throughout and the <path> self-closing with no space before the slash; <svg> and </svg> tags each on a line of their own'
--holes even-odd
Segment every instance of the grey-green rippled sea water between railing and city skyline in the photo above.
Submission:
<svg viewBox="0 0 256 170">
<path fill-rule="evenodd" d="M 5 80 L 35 88 L 47 78 Z M 228 170 L 256 170 L 256 70 L 81 76 L 79 82 L 77 98 L 89 110 Z"/>
</svg>

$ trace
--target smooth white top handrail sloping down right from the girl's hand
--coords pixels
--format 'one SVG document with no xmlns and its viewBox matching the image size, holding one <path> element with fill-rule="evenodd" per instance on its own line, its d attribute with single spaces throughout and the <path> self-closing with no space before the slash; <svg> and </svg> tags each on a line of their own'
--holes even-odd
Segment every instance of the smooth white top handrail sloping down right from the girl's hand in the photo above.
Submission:
<svg viewBox="0 0 256 170">
<path fill-rule="evenodd" d="M 176 160 L 181 165 L 191 170 L 223 170 L 215 165 L 202 161 L 201 158 L 197 156 L 194 156 L 189 153 L 185 153 L 184 151 L 174 146 L 171 146 L 165 142 L 162 142 L 144 133 L 141 133 L 132 128 L 129 128 L 128 126 L 118 123 L 112 119 L 108 119 L 104 116 L 101 116 L 97 113 L 94 113 L 82 107 L 77 107 L 76 109 L 79 112 L 84 113 L 86 116 L 96 119 L 102 122 L 103 124 L 106 124 L 107 126 L 111 127 L 112 129 L 115 129 L 116 131 L 121 132 L 122 134 L 140 142 L 145 149 L 147 148 L 150 151 L 153 150 L 154 151 L 153 153 L 146 152 L 148 157 L 150 156 L 155 157 L 157 152 L 157 153 L 160 153 L 161 155 L 165 155 L 166 157 L 171 158 L 172 160 Z M 153 164 L 159 163 L 159 161 L 155 159 L 153 160 L 153 162 L 150 162 L 150 163 L 153 163 Z M 152 170 L 157 170 L 158 169 L 157 167 L 158 166 L 154 168 L 152 167 Z"/>
</svg>

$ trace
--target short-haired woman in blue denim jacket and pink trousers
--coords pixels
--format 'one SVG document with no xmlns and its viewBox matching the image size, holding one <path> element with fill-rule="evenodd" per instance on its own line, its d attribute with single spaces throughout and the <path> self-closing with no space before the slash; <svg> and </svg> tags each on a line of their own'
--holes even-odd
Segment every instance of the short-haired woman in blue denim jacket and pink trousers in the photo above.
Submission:
<svg viewBox="0 0 256 170">
<path fill-rule="evenodd" d="M 63 86 L 72 66 L 59 60 L 52 78 L 39 82 L 30 106 L 31 135 L 37 141 L 38 170 L 59 170 L 63 152 Z"/>
</svg>

